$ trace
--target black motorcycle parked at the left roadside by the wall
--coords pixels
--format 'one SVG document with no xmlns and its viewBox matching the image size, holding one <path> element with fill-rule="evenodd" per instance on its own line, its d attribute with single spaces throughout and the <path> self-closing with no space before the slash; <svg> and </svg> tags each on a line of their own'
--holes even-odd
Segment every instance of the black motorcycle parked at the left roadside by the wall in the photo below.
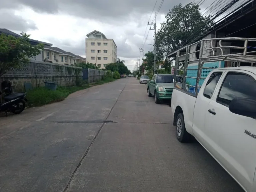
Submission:
<svg viewBox="0 0 256 192">
<path fill-rule="evenodd" d="M 25 98 L 26 93 L 12 93 L 12 89 L 5 87 L 0 91 L 0 96 L 2 95 L 4 95 L 4 102 L 0 103 L 0 112 L 5 112 L 6 116 L 9 111 L 19 114 L 25 109 L 28 101 Z"/>
</svg>

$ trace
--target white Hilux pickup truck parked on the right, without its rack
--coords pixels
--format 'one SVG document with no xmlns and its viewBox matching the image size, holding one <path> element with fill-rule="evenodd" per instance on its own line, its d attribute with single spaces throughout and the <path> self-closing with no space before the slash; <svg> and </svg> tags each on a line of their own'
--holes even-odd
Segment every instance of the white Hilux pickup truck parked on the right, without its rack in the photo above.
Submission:
<svg viewBox="0 0 256 192">
<path fill-rule="evenodd" d="M 171 105 L 177 139 L 195 137 L 245 191 L 255 192 L 256 67 L 214 69 L 197 96 L 175 87 Z"/>
</svg>

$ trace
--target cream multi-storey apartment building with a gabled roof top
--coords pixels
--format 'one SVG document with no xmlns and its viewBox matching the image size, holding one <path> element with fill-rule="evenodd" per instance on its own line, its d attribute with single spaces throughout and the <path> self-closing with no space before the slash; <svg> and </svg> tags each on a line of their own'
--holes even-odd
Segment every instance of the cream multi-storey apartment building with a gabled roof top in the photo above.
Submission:
<svg viewBox="0 0 256 192">
<path fill-rule="evenodd" d="M 101 69 L 105 69 L 108 63 L 116 62 L 117 46 L 113 39 L 107 39 L 103 33 L 96 30 L 86 36 L 86 62 L 94 63 Z"/>
</svg>

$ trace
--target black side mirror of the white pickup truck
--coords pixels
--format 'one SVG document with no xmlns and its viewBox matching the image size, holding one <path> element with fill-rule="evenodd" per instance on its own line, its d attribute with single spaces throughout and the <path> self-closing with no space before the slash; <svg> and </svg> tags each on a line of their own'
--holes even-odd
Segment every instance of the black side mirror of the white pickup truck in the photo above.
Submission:
<svg viewBox="0 0 256 192">
<path fill-rule="evenodd" d="M 247 98 L 235 98 L 230 102 L 229 111 L 245 117 L 256 118 L 256 101 Z"/>
</svg>

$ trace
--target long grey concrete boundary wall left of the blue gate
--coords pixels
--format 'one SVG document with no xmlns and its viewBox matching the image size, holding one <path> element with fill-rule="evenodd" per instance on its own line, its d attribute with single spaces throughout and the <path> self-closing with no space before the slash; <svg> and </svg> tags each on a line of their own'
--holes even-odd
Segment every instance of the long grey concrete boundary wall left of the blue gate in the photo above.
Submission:
<svg viewBox="0 0 256 192">
<path fill-rule="evenodd" d="M 15 91 L 24 90 L 24 82 L 29 82 L 33 87 L 44 86 L 44 82 L 55 82 L 59 86 L 74 86 L 76 78 L 82 77 L 82 68 L 57 63 L 30 60 L 19 68 L 5 73 L 0 82 L 9 80 Z"/>
</svg>

